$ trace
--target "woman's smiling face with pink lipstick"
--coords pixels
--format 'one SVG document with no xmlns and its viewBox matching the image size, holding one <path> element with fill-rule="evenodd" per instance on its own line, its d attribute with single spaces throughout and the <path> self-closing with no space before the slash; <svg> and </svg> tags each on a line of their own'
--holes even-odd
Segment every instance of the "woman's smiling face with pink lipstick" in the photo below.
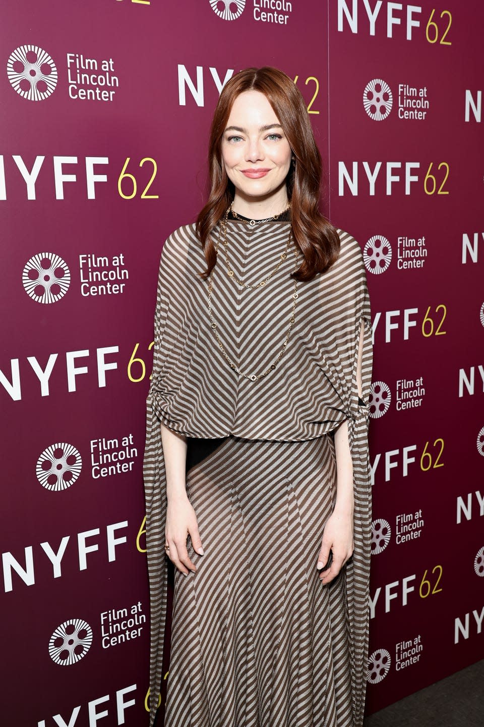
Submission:
<svg viewBox="0 0 484 727">
<path fill-rule="evenodd" d="M 222 161 L 236 193 L 255 201 L 285 184 L 291 148 L 266 96 L 245 91 L 234 100 L 221 143 Z"/>
</svg>

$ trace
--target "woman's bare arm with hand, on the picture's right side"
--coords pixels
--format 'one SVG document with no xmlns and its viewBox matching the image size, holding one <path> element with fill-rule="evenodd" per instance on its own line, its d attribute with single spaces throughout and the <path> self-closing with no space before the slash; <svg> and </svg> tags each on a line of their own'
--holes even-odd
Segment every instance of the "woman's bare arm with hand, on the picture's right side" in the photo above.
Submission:
<svg viewBox="0 0 484 727">
<path fill-rule="evenodd" d="M 361 359 L 363 356 L 363 337 L 364 324 L 362 323 L 358 345 L 358 364 L 356 366 L 356 384 L 360 396 L 362 395 Z M 333 552 L 333 562 L 327 571 L 323 571 L 319 575 L 323 583 L 329 583 L 335 578 L 342 566 L 348 561 L 348 558 L 353 555 L 353 462 L 348 441 L 348 420 L 345 420 L 335 430 L 335 457 L 337 483 L 335 508 L 324 526 L 317 567 L 320 569 L 327 562 L 330 548 Z"/>
</svg>

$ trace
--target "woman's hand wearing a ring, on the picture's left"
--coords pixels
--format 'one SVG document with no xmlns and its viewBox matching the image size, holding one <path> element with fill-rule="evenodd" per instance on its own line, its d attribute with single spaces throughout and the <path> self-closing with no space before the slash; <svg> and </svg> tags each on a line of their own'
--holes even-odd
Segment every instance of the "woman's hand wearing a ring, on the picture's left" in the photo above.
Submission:
<svg viewBox="0 0 484 727">
<path fill-rule="evenodd" d="M 166 509 L 165 544 L 170 550 L 165 551 L 173 565 L 184 576 L 188 571 L 196 571 L 197 566 L 189 558 L 186 550 L 186 538 L 190 536 L 192 546 L 199 555 L 203 555 L 202 540 L 198 531 L 197 515 L 189 501 L 186 492 L 173 494 L 168 498 Z"/>
</svg>

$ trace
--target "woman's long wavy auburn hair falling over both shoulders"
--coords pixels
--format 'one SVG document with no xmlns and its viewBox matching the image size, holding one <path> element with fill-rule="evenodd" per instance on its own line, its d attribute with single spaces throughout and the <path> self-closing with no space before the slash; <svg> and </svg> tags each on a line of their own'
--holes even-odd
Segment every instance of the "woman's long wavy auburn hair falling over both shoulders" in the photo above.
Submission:
<svg viewBox="0 0 484 727">
<path fill-rule="evenodd" d="M 319 212 L 321 196 L 321 154 L 313 137 L 305 101 L 292 79 L 278 68 L 245 68 L 223 87 L 210 127 L 208 164 L 210 196 L 197 217 L 196 231 L 207 261 L 208 278 L 216 264 L 216 248 L 211 233 L 234 200 L 235 188 L 222 161 L 221 142 L 234 100 L 245 91 L 259 91 L 271 104 L 295 156 L 286 177 L 287 197 L 291 201 L 292 236 L 303 254 L 303 262 L 291 277 L 311 280 L 324 273 L 337 260 L 340 238 L 331 223 Z"/>
</svg>

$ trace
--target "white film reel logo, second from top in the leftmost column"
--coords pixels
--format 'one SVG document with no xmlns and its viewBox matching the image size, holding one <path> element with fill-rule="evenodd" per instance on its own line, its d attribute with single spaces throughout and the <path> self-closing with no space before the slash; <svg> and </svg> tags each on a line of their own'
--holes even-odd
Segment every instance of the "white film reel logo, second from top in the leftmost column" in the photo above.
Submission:
<svg viewBox="0 0 484 727">
<path fill-rule="evenodd" d="M 32 300 L 56 303 L 70 286 L 70 270 L 54 252 L 39 252 L 30 257 L 22 271 L 22 285 Z"/>
</svg>

